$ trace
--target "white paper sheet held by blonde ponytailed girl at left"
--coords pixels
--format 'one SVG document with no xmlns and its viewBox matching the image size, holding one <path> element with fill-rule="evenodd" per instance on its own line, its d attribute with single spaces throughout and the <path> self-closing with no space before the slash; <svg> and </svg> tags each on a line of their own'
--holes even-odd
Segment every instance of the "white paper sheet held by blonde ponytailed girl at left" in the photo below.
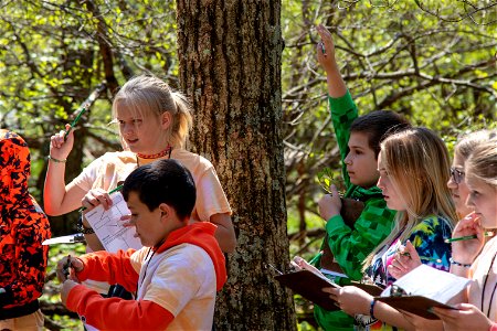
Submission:
<svg viewBox="0 0 497 331">
<path fill-rule="evenodd" d="M 116 253 L 119 249 L 141 248 L 139 238 L 135 237 L 135 227 L 123 226 L 120 217 L 130 212 L 120 192 L 113 193 L 113 205 L 107 211 L 102 205 L 86 213 L 85 217 L 101 239 L 105 250 Z"/>
</svg>

